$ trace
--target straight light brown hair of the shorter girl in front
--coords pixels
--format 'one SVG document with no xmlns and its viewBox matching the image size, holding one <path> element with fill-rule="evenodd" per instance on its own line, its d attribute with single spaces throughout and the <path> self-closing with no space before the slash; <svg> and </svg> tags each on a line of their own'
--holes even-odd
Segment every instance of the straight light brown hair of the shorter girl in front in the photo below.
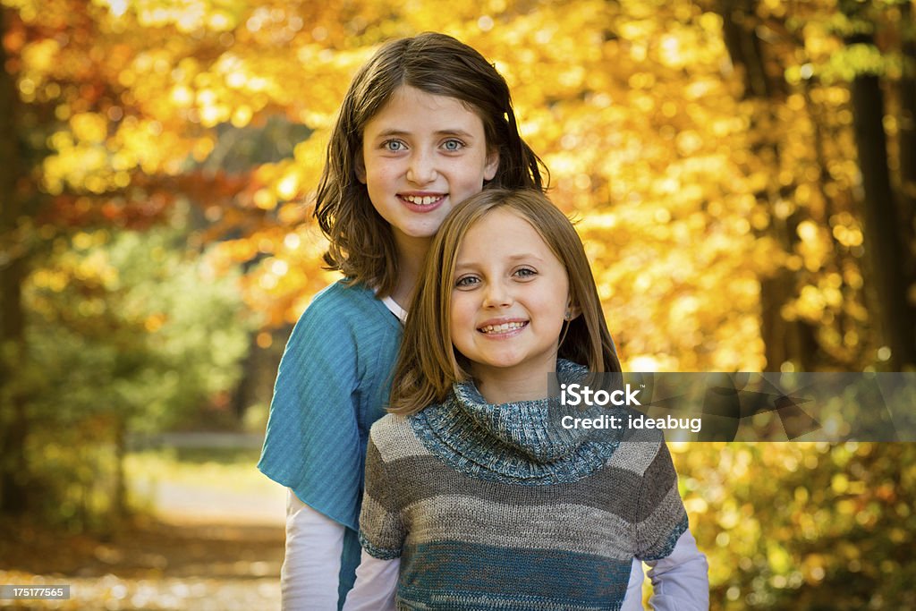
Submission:
<svg viewBox="0 0 916 611">
<path fill-rule="evenodd" d="M 558 355 L 594 373 L 619 373 L 592 268 L 573 224 L 540 191 L 489 189 L 467 199 L 442 223 L 410 304 L 394 370 L 389 411 L 408 415 L 444 400 L 452 385 L 470 378 L 450 332 L 455 259 L 464 236 L 487 213 L 505 208 L 528 221 L 560 259 L 570 300 L 581 315 L 566 323 Z"/>
</svg>

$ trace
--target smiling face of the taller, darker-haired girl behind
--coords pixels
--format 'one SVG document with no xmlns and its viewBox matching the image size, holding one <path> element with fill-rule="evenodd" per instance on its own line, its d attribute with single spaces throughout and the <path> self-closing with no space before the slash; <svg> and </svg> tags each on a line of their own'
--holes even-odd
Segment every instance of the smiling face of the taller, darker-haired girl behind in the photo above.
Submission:
<svg viewBox="0 0 916 611">
<path fill-rule="evenodd" d="M 411 242 L 428 245 L 453 206 L 481 191 L 498 165 L 478 115 L 454 98 L 402 86 L 365 124 L 357 173 L 405 252 Z"/>
</svg>

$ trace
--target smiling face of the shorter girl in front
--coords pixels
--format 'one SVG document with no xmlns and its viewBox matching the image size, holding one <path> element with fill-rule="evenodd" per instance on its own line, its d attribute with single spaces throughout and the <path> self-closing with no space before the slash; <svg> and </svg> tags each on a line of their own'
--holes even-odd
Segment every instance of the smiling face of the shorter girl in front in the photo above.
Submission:
<svg viewBox="0 0 916 611">
<path fill-rule="evenodd" d="M 450 330 L 475 378 L 511 374 L 546 384 L 568 305 L 566 269 L 527 220 L 497 208 L 464 235 Z"/>
</svg>

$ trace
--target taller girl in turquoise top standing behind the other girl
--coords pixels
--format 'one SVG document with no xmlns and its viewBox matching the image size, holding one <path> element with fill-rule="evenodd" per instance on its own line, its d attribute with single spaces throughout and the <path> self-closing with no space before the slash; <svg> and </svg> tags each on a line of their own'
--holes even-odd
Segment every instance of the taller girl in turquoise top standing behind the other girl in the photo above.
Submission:
<svg viewBox="0 0 916 611">
<path fill-rule="evenodd" d="M 539 164 L 502 76 L 454 38 L 390 42 L 354 77 L 315 205 L 325 261 L 345 279 L 289 338 L 258 464 L 290 490 L 285 608 L 336 609 L 353 585 L 368 431 L 432 235 L 485 187 L 540 189 Z"/>
</svg>

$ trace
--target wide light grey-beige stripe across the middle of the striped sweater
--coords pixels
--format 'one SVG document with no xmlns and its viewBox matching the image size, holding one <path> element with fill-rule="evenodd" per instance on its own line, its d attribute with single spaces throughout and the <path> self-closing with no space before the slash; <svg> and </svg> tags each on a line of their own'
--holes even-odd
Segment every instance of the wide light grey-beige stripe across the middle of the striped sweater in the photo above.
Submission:
<svg viewBox="0 0 916 611">
<path fill-rule="evenodd" d="M 405 508 L 407 543 L 457 540 L 541 550 L 633 557 L 633 525 L 616 514 L 581 505 L 519 507 L 474 496 L 443 495 Z"/>
</svg>

